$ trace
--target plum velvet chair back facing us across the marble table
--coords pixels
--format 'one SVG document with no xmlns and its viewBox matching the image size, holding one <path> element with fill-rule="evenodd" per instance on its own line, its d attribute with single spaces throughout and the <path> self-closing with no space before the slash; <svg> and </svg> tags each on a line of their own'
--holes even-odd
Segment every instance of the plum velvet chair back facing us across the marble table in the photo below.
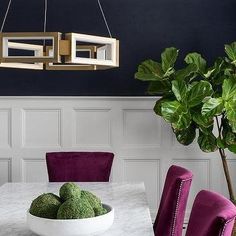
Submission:
<svg viewBox="0 0 236 236">
<path fill-rule="evenodd" d="M 49 182 L 108 182 L 113 158 L 109 152 L 46 153 Z"/>
</svg>

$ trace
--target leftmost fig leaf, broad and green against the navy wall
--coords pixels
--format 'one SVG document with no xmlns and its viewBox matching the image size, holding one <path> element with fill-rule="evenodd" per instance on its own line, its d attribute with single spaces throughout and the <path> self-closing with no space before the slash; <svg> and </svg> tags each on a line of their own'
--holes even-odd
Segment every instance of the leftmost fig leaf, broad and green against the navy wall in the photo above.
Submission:
<svg viewBox="0 0 236 236">
<path fill-rule="evenodd" d="M 153 60 L 146 60 L 138 67 L 135 78 L 142 81 L 157 81 L 163 78 L 161 64 Z"/>
</svg>

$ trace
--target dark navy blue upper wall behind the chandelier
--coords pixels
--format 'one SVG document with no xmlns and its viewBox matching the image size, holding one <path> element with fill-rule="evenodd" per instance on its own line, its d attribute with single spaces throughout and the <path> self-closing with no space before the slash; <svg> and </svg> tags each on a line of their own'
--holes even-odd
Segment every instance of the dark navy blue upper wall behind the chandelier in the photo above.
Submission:
<svg viewBox="0 0 236 236">
<path fill-rule="evenodd" d="M 48 0 L 48 31 L 107 36 L 96 0 Z M 159 59 L 176 46 L 181 57 L 198 51 L 212 61 L 236 40 L 235 0 L 101 0 L 114 37 L 120 68 L 107 71 L 0 69 L 0 95 L 144 95 L 133 78 L 137 64 Z M 0 20 L 8 0 L 0 0 Z M 43 0 L 15 0 L 4 31 L 42 31 Z"/>
</svg>

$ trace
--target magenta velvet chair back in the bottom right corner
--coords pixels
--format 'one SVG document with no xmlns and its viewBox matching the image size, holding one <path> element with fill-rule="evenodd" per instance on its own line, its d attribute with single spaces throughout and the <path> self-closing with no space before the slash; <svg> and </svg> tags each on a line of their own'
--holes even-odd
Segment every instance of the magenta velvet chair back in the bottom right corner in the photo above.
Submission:
<svg viewBox="0 0 236 236">
<path fill-rule="evenodd" d="M 193 203 L 186 236 L 231 236 L 236 207 L 227 198 L 200 191 Z"/>
</svg>

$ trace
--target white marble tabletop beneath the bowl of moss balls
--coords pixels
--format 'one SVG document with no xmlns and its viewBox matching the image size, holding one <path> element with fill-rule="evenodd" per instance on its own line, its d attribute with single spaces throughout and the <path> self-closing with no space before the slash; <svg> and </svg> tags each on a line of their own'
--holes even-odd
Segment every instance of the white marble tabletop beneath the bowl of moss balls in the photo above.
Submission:
<svg viewBox="0 0 236 236">
<path fill-rule="evenodd" d="M 153 236 L 143 183 L 79 183 L 115 208 L 112 227 L 103 236 Z M 35 236 L 26 225 L 32 199 L 58 194 L 61 183 L 8 183 L 0 187 L 0 236 Z"/>
</svg>

